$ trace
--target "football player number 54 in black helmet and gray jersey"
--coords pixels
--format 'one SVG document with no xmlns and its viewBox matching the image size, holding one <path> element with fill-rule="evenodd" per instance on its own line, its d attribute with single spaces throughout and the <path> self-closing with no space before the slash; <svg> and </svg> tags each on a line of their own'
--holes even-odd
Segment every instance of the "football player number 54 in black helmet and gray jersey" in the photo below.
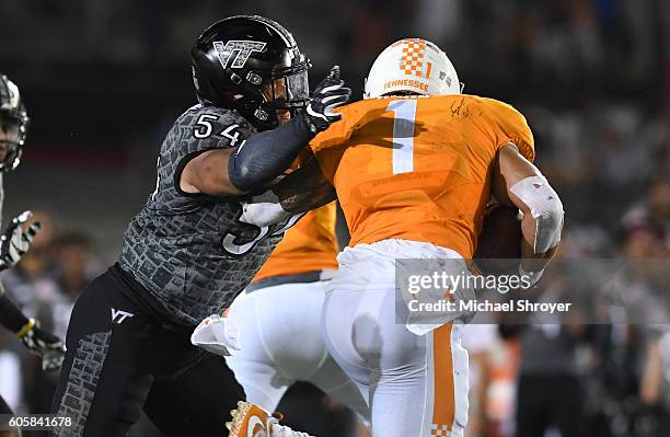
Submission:
<svg viewBox="0 0 670 437">
<path fill-rule="evenodd" d="M 155 191 L 128 225 L 119 262 L 72 311 L 53 412 L 73 424 L 57 436 L 124 436 L 142 407 L 169 436 L 228 435 L 226 402 L 241 388 L 222 392 L 232 377 L 203 360 L 189 335 L 230 304 L 297 220 L 256 226 L 244 196 L 280 176 L 350 94 L 334 67 L 310 97 L 309 60 L 262 16 L 215 23 L 192 60 L 199 104 L 168 133 Z"/>
</svg>

